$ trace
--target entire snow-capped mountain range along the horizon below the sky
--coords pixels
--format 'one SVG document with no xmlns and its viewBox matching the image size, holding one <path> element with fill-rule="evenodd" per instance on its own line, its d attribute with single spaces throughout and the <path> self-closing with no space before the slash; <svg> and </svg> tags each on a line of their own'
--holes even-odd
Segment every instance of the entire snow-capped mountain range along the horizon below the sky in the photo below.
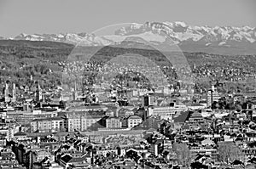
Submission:
<svg viewBox="0 0 256 169">
<path fill-rule="evenodd" d="M 154 44 L 171 42 L 183 51 L 221 54 L 256 54 L 256 28 L 250 26 L 192 26 L 184 22 L 146 22 L 117 29 L 113 35 L 96 36 L 88 33 L 20 34 L 12 39 L 53 41 L 85 46 L 109 45 L 127 37 L 141 37 Z M 169 41 L 168 41 L 169 40 Z"/>
</svg>

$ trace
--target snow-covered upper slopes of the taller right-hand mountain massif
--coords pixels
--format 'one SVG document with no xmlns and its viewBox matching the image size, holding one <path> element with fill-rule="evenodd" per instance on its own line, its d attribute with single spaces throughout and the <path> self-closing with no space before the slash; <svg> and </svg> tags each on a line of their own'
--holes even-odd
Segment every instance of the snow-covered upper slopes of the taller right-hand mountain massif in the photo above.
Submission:
<svg viewBox="0 0 256 169">
<path fill-rule="evenodd" d="M 237 42 L 255 42 L 255 28 L 244 26 L 241 28 L 231 26 L 191 26 L 183 22 L 147 22 L 136 30 L 132 27 L 121 28 L 122 36 L 152 31 L 156 33 L 166 33 L 173 41 L 184 42 L 192 39 L 193 42 L 227 42 L 235 40 Z"/>
</svg>

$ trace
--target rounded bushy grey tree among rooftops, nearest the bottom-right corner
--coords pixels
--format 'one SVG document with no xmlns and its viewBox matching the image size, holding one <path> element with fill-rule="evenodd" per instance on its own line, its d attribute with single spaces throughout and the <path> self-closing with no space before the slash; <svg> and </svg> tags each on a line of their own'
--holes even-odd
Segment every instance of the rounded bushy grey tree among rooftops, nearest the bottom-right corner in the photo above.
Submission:
<svg viewBox="0 0 256 169">
<path fill-rule="evenodd" d="M 218 144 L 218 160 L 226 164 L 235 160 L 243 160 L 244 155 L 241 149 L 236 147 L 235 144 L 220 143 Z"/>
</svg>

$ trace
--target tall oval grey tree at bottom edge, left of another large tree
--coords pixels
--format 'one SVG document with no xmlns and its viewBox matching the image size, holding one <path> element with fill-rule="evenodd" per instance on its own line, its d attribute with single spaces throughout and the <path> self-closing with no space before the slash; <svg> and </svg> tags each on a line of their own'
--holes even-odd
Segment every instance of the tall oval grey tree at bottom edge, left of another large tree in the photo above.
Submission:
<svg viewBox="0 0 256 169">
<path fill-rule="evenodd" d="M 177 161 L 183 166 L 190 166 L 191 163 L 191 155 L 189 151 L 189 147 L 186 144 L 172 144 L 172 150 L 177 155 Z"/>
</svg>

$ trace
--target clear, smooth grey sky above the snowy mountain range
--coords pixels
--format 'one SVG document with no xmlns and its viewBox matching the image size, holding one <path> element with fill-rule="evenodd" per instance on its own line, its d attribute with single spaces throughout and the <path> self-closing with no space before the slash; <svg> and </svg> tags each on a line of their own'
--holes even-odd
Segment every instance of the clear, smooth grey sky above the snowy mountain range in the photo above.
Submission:
<svg viewBox="0 0 256 169">
<path fill-rule="evenodd" d="M 0 36 L 91 32 L 106 25 L 184 21 L 256 26 L 255 0 L 0 0 Z"/>
</svg>

